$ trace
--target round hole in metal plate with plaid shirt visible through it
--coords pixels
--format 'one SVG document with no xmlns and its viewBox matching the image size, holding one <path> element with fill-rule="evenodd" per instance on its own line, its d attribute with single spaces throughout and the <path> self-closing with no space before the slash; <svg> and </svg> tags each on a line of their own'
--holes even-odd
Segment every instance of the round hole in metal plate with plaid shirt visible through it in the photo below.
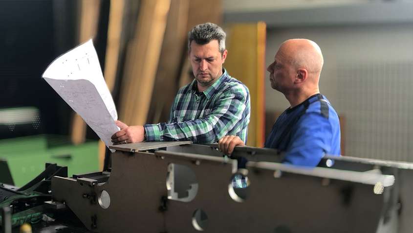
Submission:
<svg viewBox="0 0 413 233">
<path fill-rule="evenodd" d="M 244 202 L 248 198 L 250 180 L 245 174 L 235 173 L 228 184 L 228 193 L 236 202 Z"/>
</svg>

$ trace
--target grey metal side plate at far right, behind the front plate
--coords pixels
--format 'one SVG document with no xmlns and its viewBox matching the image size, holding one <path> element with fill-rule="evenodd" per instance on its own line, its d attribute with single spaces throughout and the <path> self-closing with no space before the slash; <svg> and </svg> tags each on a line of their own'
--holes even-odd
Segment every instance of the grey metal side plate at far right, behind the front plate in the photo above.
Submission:
<svg viewBox="0 0 413 233">
<path fill-rule="evenodd" d="M 349 171 L 375 171 L 393 175 L 395 183 L 387 193 L 387 204 L 379 233 L 411 233 L 413 229 L 413 163 L 325 156 L 319 166 Z"/>
</svg>

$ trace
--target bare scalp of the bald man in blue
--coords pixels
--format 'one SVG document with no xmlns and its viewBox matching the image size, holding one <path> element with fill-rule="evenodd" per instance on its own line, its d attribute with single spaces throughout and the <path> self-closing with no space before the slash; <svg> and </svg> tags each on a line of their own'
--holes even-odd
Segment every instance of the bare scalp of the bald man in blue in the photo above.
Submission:
<svg viewBox="0 0 413 233">
<path fill-rule="evenodd" d="M 309 73 L 320 76 L 324 59 L 320 47 L 307 39 L 291 39 L 283 42 L 281 53 L 296 69 L 304 68 Z"/>
</svg>

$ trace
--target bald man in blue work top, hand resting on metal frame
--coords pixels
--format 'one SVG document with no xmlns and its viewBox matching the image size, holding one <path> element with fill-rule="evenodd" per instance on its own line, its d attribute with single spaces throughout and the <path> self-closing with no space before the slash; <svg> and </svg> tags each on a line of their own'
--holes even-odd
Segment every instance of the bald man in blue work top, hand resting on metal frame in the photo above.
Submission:
<svg viewBox="0 0 413 233">
<path fill-rule="evenodd" d="M 339 119 L 318 87 L 323 63 L 323 54 L 315 42 L 292 39 L 280 46 L 267 68 L 271 87 L 283 93 L 290 103 L 265 141 L 266 148 L 285 153 L 283 163 L 316 166 L 325 154 L 340 155 Z M 236 136 L 218 141 L 225 154 L 243 144 Z"/>
</svg>

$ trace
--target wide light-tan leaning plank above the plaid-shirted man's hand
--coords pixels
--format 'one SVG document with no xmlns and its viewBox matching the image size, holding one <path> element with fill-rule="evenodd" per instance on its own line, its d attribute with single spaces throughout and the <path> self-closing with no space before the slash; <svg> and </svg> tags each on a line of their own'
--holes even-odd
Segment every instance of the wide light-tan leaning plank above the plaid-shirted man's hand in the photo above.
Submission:
<svg viewBox="0 0 413 233">
<path fill-rule="evenodd" d="M 171 0 L 142 0 L 130 41 L 120 94 L 120 119 L 145 123 Z"/>
</svg>

